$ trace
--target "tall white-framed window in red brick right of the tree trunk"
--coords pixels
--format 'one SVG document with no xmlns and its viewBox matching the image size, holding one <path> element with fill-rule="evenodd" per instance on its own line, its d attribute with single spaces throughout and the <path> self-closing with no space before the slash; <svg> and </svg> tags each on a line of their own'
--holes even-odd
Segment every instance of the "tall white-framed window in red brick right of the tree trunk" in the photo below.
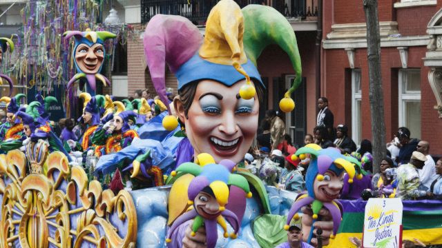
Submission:
<svg viewBox="0 0 442 248">
<path fill-rule="evenodd" d="M 421 70 L 399 70 L 399 127 L 407 127 L 413 138 L 421 138 Z"/>
</svg>

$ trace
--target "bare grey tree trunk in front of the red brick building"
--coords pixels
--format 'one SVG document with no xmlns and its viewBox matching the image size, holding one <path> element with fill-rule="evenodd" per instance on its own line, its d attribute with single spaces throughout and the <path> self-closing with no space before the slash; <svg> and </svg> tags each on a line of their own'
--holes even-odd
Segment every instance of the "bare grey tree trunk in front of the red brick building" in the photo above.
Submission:
<svg viewBox="0 0 442 248">
<path fill-rule="evenodd" d="M 379 34 L 378 1 L 363 0 L 367 23 L 367 59 L 369 77 L 369 102 L 372 111 L 373 172 L 385 156 L 384 100 L 381 78 L 381 35 Z"/>
</svg>

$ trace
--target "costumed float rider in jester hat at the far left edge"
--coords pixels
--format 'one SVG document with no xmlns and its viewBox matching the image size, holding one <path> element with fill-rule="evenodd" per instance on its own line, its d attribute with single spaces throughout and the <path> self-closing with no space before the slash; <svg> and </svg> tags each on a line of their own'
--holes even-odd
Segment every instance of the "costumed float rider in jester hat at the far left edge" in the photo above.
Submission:
<svg viewBox="0 0 442 248">
<path fill-rule="evenodd" d="M 23 125 L 21 123 L 15 123 L 14 115 L 19 111 L 20 100 L 26 97 L 25 94 L 17 94 L 12 98 L 3 96 L 0 102 L 6 102 L 6 120 L 7 122 L 0 126 L 0 138 L 2 141 L 7 139 L 20 139 L 22 138 Z"/>
</svg>

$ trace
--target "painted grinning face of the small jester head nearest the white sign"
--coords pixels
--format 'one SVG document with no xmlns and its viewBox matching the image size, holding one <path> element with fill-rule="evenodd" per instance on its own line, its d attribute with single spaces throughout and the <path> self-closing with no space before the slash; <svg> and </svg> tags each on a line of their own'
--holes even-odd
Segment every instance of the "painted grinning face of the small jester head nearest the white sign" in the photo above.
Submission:
<svg viewBox="0 0 442 248">
<path fill-rule="evenodd" d="M 323 203 L 331 202 L 339 197 L 340 189 L 343 188 L 344 173 L 336 175 L 332 170 L 327 170 L 324 180 L 314 181 L 314 194 L 317 200 Z"/>
</svg>

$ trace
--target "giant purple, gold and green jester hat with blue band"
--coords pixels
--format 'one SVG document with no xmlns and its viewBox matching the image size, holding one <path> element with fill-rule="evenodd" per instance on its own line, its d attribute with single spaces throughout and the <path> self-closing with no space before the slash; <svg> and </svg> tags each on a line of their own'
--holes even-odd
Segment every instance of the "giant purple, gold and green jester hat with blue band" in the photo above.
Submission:
<svg viewBox="0 0 442 248">
<path fill-rule="evenodd" d="M 250 6 L 250 7 L 249 7 Z M 178 91 L 185 85 L 211 79 L 231 86 L 246 79 L 262 85 L 256 60 L 267 45 L 276 43 L 289 53 L 296 71 L 294 86 L 301 79 L 300 56 L 291 25 L 277 10 L 249 5 L 243 10 L 233 0 L 221 0 L 211 10 L 204 39 L 184 17 L 157 14 L 144 32 L 144 53 L 153 85 L 166 101 L 165 66 L 177 76 Z M 251 96 L 242 96 L 250 99 Z M 169 110 L 169 106 L 168 106 Z M 170 114 L 169 110 L 169 114 Z"/>
</svg>

